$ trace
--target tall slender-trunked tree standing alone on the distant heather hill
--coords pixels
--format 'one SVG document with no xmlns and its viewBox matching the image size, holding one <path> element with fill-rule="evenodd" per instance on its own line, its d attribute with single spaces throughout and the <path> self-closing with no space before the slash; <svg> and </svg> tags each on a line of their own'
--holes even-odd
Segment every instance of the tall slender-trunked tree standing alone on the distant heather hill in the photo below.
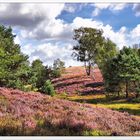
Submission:
<svg viewBox="0 0 140 140">
<path fill-rule="evenodd" d="M 73 46 L 72 56 L 77 61 L 84 62 L 87 75 L 90 75 L 91 66 L 95 63 L 98 48 L 102 45 L 102 30 L 94 28 L 79 28 L 74 30 L 74 40 L 77 45 Z"/>
</svg>

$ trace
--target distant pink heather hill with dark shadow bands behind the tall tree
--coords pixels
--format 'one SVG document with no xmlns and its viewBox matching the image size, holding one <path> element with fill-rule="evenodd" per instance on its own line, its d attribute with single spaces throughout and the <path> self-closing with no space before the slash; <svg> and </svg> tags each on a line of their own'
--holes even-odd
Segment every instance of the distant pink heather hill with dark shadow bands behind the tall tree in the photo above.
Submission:
<svg viewBox="0 0 140 140">
<path fill-rule="evenodd" d="M 86 75 L 84 67 L 69 67 L 62 77 L 53 80 L 53 84 L 58 93 L 65 92 L 69 95 L 103 93 L 103 78 L 100 70 L 92 69 L 91 75 Z"/>
</svg>

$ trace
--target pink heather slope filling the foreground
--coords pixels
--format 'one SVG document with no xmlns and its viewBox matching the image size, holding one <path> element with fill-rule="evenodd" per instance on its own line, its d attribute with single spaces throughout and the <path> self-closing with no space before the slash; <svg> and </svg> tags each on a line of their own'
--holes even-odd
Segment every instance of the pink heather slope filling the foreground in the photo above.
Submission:
<svg viewBox="0 0 140 140">
<path fill-rule="evenodd" d="M 128 113 L 0 88 L 0 135 L 140 135 L 139 131 L 140 119 Z"/>
</svg>

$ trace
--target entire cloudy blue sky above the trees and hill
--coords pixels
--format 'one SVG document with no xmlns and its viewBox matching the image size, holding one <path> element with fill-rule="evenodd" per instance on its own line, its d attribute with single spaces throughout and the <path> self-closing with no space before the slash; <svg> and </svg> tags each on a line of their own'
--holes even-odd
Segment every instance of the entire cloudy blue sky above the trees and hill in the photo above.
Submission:
<svg viewBox="0 0 140 140">
<path fill-rule="evenodd" d="M 140 43 L 140 4 L 43 3 L 0 4 L 0 24 L 11 26 L 29 60 L 39 58 L 52 65 L 58 57 L 67 66 L 81 65 L 72 59 L 75 28 L 103 29 L 121 49 Z"/>
</svg>

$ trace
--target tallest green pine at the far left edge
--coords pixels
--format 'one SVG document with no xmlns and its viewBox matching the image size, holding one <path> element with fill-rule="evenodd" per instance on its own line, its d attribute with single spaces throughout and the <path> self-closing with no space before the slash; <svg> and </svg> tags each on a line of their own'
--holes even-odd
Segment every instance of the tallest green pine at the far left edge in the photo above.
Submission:
<svg viewBox="0 0 140 140">
<path fill-rule="evenodd" d="M 22 65 L 28 62 L 28 56 L 21 53 L 20 46 L 14 43 L 14 38 L 10 27 L 0 25 L 0 85 L 22 89 L 22 81 L 26 78 L 23 76 L 25 71 Z"/>
</svg>

